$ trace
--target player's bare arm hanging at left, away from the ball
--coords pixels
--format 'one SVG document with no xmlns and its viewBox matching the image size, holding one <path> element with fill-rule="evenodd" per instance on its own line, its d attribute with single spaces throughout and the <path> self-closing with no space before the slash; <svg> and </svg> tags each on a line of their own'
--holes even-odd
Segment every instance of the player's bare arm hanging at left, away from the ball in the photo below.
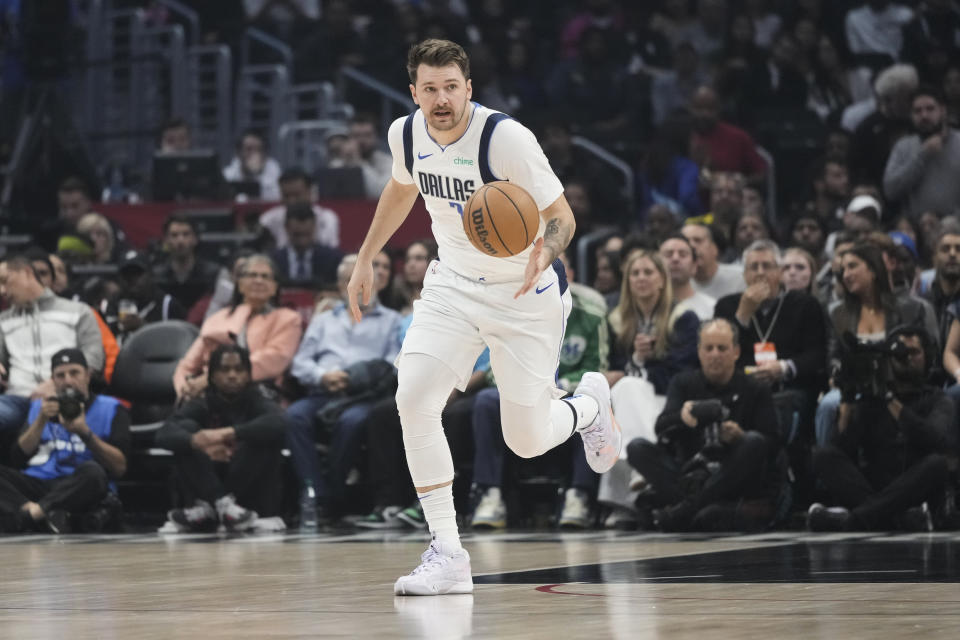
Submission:
<svg viewBox="0 0 960 640">
<path fill-rule="evenodd" d="M 410 209 L 419 194 L 415 184 L 402 184 L 394 178 L 390 178 L 380 194 L 373 222 L 357 252 L 357 266 L 347 284 L 350 313 L 357 322 L 360 322 L 362 315 L 357 300 L 362 296 L 363 304 L 369 304 L 373 295 L 373 259 L 410 215 Z"/>
</svg>

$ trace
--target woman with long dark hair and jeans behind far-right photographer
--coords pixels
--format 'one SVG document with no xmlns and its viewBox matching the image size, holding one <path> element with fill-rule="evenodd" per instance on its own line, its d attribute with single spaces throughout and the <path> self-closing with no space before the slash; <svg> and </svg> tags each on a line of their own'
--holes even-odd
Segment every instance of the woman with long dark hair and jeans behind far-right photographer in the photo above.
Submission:
<svg viewBox="0 0 960 640">
<path fill-rule="evenodd" d="M 858 343 L 878 344 L 900 326 L 924 327 L 927 318 L 923 305 L 911 297 L 896 297 L 880 250 L 864 243 L 855 244 L 841 256 L 843 300 L 829 311 L 832 331 L 828 342 L 828 365 L 840 364 L 844 335 Z M 820 400 L 816 414 L 816 440 L 829 444 L 837 428 L 840 390 L 831 389 Z"/>
</svg>

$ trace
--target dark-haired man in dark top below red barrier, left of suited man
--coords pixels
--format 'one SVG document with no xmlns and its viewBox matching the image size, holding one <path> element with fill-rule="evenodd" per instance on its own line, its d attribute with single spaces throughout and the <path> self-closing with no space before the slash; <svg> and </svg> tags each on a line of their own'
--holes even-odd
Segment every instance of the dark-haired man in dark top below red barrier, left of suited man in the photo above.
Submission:
<svg viewBox="0 0 960 640">
<path fill-rule="evenodd" d="M 161 291 L 172 295 L 188 311 L 213 290 L 220 267 L 197 256 L 200 238 L 190 218 L 173 214 L 163 223 L 162 262 L 153 269 L 153 279 Z"/>
</svg>

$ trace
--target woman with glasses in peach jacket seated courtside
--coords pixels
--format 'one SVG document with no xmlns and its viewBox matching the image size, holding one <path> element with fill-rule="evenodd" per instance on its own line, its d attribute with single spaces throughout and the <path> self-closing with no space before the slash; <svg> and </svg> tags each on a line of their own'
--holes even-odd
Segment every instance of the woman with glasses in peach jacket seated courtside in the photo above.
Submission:
<svg viewBox="0 0 960 640">
<path fill-rule="evenodd" d="M 200 335 L 177 364 L 173 386 L 180 402 L 203 393 L 210 354 L 222 344 L 250 352 L 254 383 L 279 384 L 300 343 L 300 315 L 276 307 L 277 270 L 265 255 L 247 258 L 231 306 L 203 322 Z"/>
</svg>

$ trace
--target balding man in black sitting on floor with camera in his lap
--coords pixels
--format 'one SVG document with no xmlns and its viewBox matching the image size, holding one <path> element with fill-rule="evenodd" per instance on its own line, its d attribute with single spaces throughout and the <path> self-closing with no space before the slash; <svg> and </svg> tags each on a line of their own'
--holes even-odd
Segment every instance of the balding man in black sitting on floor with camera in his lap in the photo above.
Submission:
<svg viewBox="0 0 960 640">
<path fill-rule="evenodd" d="M 745 530 L 765 526 L 779 485 L 768 478 L 778 449 L 767 385 L 737 368 L 739 331 L 717 318 L 700 326 L 701 369 L 670 381 L 657 418 L 657 442 L 635 438 L 630 465 L 652 485 L 663 531 Z"/>
</svg>

